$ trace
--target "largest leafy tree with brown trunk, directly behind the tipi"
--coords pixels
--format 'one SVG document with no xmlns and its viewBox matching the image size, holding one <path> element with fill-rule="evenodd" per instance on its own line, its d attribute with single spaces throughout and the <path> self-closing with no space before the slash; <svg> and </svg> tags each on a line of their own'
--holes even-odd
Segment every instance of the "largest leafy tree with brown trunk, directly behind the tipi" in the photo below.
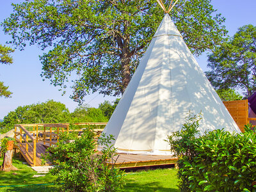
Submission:
<svg viewBox="0 0 256 192">
<path fill-rule="evenodd" d="M 211 0 L 180 0 L 170 14 L 193 54 L 227 33 Z M 88 93 L 124 93 L 163 15 L 155 0 L 31 0 L 13 4 L 3 28 L 19 49 L 47 48 L 42 77 L 61 88 L 72 80 L 81 102 Z"/>
</svg>

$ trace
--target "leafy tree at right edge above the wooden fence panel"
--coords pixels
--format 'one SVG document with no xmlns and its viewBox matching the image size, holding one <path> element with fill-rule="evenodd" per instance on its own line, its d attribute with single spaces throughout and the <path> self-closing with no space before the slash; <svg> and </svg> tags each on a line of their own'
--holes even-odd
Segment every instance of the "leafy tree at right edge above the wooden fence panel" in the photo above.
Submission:
<svg viewBox="0 0 256 192">
<path fill-rule="evenodd" d="M 216 89 L 240 89 L 247 97 L 256 91 L 256 27 L 246 25 L 209 55 L 206 72 Z"/>
</svg>

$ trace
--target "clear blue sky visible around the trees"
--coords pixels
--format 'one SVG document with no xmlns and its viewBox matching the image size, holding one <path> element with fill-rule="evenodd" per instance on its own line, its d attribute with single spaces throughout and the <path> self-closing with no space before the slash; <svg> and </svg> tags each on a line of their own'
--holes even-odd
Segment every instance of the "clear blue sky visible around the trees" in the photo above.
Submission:
<svg viewBox="0 0 256 192">
<path fill-rule="evenodd" d="M 11 3 L 20 3 L 21 0 L 3 0 L 0 6 L 0 22 L 12 13 Z M 212 0 L 212 5 L 226 18 L 225 26 L 232 36 L 237 29 L 246 24 L 256 26 L 256 1 L 255 0 Z M 0 27 L 0 44 L 5 44 L 10 40 L 10 36 L 4 35 L 3 28 Z M 74 111 L 77 103 L 69 98 L 70 90 L 67 94 L 61 96 L 58 87 L 54 87 L 49 81 L 42 81 L 40 74 L 42 72 L 42 64 L 38 59 L 42 51 L 36 45 L 28 46 L 24 51 L 16 50 L 13 56 L 12 65 L 0 65 L 0 81 L 4 81 L 13 92 L 12 98 L 0 98 L 0 119 L 13 111 L 18 106 L 35 104 L 37 102 L 45 102 L 53 99 L 66 104 L 70 111 Z M 207 57 L 203 54 L 196 58 L 200 67 L 207 70 Z M 98 107 L 100 102 L 104 100 L 115 100 L 113 97 L 103 97 L 97 93 L 88 95 L 85 103 L 90 106 Z"/>
</svg>

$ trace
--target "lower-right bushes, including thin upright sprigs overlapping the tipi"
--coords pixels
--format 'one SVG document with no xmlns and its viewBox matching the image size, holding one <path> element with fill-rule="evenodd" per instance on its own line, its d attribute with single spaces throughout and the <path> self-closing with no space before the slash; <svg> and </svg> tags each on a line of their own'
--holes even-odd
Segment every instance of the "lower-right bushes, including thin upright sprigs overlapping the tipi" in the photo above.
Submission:
<svg viewBox="0 0 256 192">
<path fill-rule="evenodd" d="M 190 150 L 179 156 L 181 191 L 255 191 L 256 134 L 246 126 L 243 134 L 218 129 L 199 138 L 188 137 L 188 132 L 196 133 L 193 123 L 197 126 L 198 119 L 184 124 L 180 138 L 174 137 L 177 132 L 169 136 L 171 145 L 186 143 L 172 147 L 177 154 L 186 147 Z"/>
</svg>

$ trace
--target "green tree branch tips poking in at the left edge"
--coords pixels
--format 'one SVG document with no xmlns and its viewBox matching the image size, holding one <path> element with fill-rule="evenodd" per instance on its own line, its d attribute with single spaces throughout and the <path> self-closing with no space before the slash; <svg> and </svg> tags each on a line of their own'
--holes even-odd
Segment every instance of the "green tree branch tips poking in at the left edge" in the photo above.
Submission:
<svg viewBox="0 0 256 192">
<path fill-rule="evenodd" d="M 12 48 L 0 44 L 0 64 L 10 65 L 13 63 L 12 56 L 10 56 L 10 53 L 13 51 Z M 4 83 L 0 81 L 0 97 L 11 97 L 12 92 L 10 92 L 8 88 L 8 86 L 4 86 Z"/>
</svg>

